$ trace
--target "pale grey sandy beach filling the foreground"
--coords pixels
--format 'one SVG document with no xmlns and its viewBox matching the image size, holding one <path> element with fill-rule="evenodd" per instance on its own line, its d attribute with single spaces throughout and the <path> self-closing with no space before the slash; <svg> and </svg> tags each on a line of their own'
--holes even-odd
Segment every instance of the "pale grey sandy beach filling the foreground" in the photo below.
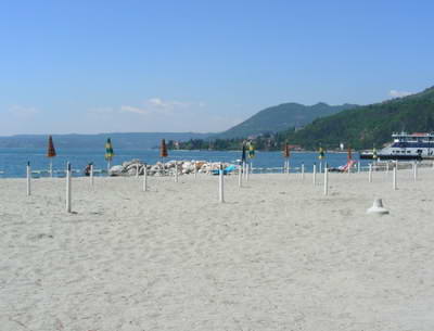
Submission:
<svg viewBox="0 0 434 331">
<path fill-rule="evenodd" d="M 0 329 L 434 330 L 434 169 L 225 179 L 1 179 Z"/>
</svg>

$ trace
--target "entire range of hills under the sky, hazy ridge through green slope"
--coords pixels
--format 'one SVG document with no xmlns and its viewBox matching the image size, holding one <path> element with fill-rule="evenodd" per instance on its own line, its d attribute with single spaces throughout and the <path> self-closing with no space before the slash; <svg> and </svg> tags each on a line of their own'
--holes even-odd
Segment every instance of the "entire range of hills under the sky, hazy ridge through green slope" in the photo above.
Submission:
<svg viewBox="0 0 434 331">
<path fill-rule="evenodd" d="M 294 131 L 294 127 L 303 129 Z M 115 148 L 151 149 L 166 140 L 230 139 L 278 132 L 275 148 L 289 141 L 306 149 L 336 148 L 341 142 L 354 149 L 381 147 L 394 131 L 434 131 L 434 87 L 404 98 L 359 106 L 354 104 L 310 106 L 283 103 L 265 109 L 220 133 L 131 132 L 99 135 L 53 135 L 60 148 L 101 148 L 107 137 Z M 46 148 L 47 135 L 0 137 L 0 148 Z"/>
</svg>

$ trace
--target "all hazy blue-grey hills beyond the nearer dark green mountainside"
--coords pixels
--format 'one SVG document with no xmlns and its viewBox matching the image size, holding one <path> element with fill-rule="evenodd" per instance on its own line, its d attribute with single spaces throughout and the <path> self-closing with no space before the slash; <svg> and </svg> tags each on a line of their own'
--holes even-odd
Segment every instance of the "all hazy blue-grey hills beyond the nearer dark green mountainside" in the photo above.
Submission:
<svg viewBox="0 0 434 331">
<path fill-rule="evenodd" d="M 243 123 L 219 133 L 196 132 L 113 132 L 97 135 L 53 135 L 55 147 L 59 148 L 101 148 L 110 137 L 115 148 L 152 149 L 159 144 L 161 139 L 187 141 L 191 139 L 227 139 L 246 138 L 267 132 L 282 131 L 291 127 L 303 127 L 315 118 L 335 114 L 357 105 L 328 105 L 319 102 L 314 105 L 299 103 L 282 103 L 265 109 Z M 16 135 L 0 137 L 0 148 L 46 148 L 48 135 Z"/>
</svg>

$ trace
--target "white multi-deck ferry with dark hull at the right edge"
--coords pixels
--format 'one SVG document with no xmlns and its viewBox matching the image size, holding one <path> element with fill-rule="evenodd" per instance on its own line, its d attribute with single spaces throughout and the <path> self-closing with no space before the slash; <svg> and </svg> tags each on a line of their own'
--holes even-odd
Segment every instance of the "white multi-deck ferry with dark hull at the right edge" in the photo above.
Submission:
<svg viewBox="0 0 434 331">
<path fill-rule="evenodd" d="M 393 141 L 379 151 L 361 152 L 360 158 L 422 160 L 434 158 L 434 132 L 393 133 Z M 376 156 L 376 157 L 375 157 Z"/>
</svg>

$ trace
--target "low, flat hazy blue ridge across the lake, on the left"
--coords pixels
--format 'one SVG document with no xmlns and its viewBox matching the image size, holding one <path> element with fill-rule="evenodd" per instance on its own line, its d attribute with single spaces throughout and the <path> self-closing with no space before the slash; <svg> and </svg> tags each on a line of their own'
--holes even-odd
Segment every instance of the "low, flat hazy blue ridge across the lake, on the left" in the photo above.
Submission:
<svg viewBox="0 0 434 331">
<path fill-rule="evenodd" d="M 53 135 L 55 148 L 103 149 L 106 139 L 112 139 L 115 149 L 152 149 L 162 139 L 206 139 L 209 133 L 194 132 L 125 132 L 98 135 Z M 17 135 L 0 137 L 0 148 L 47 148 L 48 135 Z"/>
</svg>

